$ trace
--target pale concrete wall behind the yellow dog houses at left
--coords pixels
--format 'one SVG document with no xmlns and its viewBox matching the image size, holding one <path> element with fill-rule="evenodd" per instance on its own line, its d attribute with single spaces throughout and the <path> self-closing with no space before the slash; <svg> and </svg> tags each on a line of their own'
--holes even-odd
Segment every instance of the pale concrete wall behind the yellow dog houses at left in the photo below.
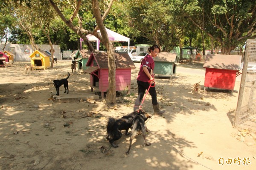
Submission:
<svg viewBox="0 0 256 170">
<path fill-rule="evenodd" d="M 50 51 L 50 45 L 48 44 L 37 44 L 38 48 L 43 51 Z M 3 49 L 4 44 L 0 44 L 1 50 Z M 54 55 L 57 60 L 61 59 L 61 49 L 59 45 L 53 45 L 55 49 Z M 6 44 L 4 50 L 8 50 L 14 54 L 14 61 L 30 61 L 29 56 L 33 53 L 32 46 L 30 44 Z"/>
</svg>

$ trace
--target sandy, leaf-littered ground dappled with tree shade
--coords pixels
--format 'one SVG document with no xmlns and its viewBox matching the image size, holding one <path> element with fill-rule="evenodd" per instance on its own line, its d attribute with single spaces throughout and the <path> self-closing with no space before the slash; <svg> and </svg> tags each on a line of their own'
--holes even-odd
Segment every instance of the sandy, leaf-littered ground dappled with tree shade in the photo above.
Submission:
<svg viewBox="0 0 256 170">
<path fill-rule="evenodd" d="M 105 139 L 109 117 L 120 118 L 133 110 L 137 97 L 139 63 L 132 70 L 131 95 L 117 97 L 109 107 L 96 101 L 49 101 L 55 93 L 52 80 L 71 73 L 71 61 L 58 61 L 54 69 L 24 73 L 29 62 L 0 67 L 0 169 L 1 170 L 253 170 L 256 168 L 256 134 L 233 128 L 240 80 L 235 92 L 204 89 L 204 75 L 177 72 L 156 78 L 157 98 L 164 116 L 153 115 L 151 131 L 143 144 L 138 136 L 129 155 L 129 136 L 113 148 Z M 202 65 L 181 64 L 205 72 Z M 179 70 L 179 69 L 177 69 Z M 70 74 L 70 94 L 90 92 L 90 76 Z M 201 81 L 198 95 L 190 93 Z M 60 95 L 64 87 L 60 88 Z M 152 115 L 150 95 L 143 109 Z M 240 130 L 241 131 L 241 130 Z M 241 134 L 241 136 L 239 136 Z M 230 162 L 232 161 L 232 162 Z M 240 164 L 240 165 L 239 165 Z"/>
</svg>

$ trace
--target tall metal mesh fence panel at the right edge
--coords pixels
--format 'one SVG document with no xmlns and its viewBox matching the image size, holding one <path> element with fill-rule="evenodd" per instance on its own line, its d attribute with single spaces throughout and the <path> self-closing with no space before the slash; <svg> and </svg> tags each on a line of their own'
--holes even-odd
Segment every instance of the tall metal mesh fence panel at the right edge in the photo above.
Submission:
<svg viewBox="0 0 256 170">
<path fill-rule="evenodd" d="M 234 127 L 256 132 L 256 39 L 246 42 Z"/>
</svg>

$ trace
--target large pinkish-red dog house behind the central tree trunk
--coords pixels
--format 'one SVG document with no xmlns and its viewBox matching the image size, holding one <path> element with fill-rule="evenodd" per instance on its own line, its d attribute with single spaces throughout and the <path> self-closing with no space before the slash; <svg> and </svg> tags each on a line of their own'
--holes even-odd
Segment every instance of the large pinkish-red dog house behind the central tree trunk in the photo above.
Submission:
<svg viewBox="0 0 256 170">
<path fill-rule="evenodd" d="M 131 69 L 135 68 L 133 61 L 127 53 L 115 53 L 116 59 L 116 91 L 131 89 Z M 91 91 L 104 92 L 108 89 L 108 54 L 107 52 L 92 52 L 86 63 L 90 68 L 84 72 L 90 74 Z"/>
</svg>

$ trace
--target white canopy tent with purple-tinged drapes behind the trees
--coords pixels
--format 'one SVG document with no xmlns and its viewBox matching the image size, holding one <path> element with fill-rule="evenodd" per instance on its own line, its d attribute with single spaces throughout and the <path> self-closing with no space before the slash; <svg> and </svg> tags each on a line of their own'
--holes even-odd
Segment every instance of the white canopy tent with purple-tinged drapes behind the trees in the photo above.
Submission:
<svg viewBox="0 0 256 170">
<path fill-rule="evenodd" d="M 128 46 L 130 46 L 130 38 L 125 37 L 116 32 L 113 32 L 110 29 L 107 29 L 106 27 L 105 27 L 105 29 L 108 33 L 108 37 L 111 42 L 128 42 Z M 97 32 L 99 32 L 99 34 L 101 35 L 99 30 Z M 89 41 L 96 42 L 96 44 L 97 44 L 96 49 L 99 50 L 99 43 L 100 43 L 99 39 L 91 34 L 86 35 L 86 37 Z M 82 41 L 84 41 L 84 40 L 82 38 L 80 38 L 80 49 L 82 49 Z"/>
</svg>

